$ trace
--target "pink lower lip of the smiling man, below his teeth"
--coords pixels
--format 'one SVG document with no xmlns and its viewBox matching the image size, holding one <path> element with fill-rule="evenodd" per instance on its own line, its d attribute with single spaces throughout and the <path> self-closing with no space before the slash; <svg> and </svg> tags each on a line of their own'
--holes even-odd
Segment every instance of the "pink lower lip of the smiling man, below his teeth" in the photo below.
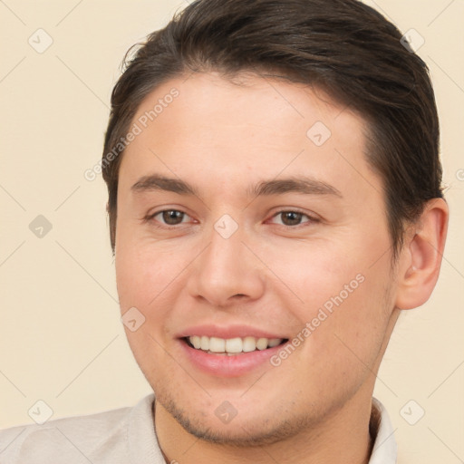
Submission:
<svg viewBox="0 0 464 464">
<path fill-rule="evenodd" d="M 180 345 L 190 362 L 201 371 L 220 377 L 238 377 L 254 371 L 266 362 L 271 364 L 269 358 L 282 350 L 286 343 L 281 343 L 266 350 L 228 356 L 227 354 L 209 354 L 197 350 L 189 346 L 185 340 L 180 339 Z"/>
</svg>

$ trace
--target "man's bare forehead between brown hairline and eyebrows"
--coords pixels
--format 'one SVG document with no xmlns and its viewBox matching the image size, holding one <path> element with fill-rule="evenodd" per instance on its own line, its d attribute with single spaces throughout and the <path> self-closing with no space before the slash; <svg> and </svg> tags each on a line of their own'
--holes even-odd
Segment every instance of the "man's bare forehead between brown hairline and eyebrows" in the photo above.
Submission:
<svg viewBox="0 0 464 464">
<path fill-rule="evenodd" d="M 343 189 L 372 177 L 362 117 L 302 84 L 253 75 L 233 82 L 216 73 L 179 77 L 145 98 L 133 125 L 140 133 L 125 150 L 121 178 L 151 170 L 218 184 L 304 170 Z"/>
</svg>

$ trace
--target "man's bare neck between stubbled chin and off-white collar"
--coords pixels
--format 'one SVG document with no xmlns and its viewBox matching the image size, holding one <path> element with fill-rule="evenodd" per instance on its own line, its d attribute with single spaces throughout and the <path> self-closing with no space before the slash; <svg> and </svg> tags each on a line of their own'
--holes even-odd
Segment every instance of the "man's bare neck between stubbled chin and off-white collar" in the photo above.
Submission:
<svg viewBox="0 0 464 464">
<path fill-rule="evenodd" d="M 184 430 L 179 422 L 159 402 L 155 408 L 155 428 L 166 462 L 194 464 L 221 462 L 223 464 L 368 464 L 378 420 L 371 411 L 370 396 L 353 397 L 342 408 L 331 413 L 324 422 L 297 435 L 266 446 L 237 447 L 199 440 Z"/>
</svg>

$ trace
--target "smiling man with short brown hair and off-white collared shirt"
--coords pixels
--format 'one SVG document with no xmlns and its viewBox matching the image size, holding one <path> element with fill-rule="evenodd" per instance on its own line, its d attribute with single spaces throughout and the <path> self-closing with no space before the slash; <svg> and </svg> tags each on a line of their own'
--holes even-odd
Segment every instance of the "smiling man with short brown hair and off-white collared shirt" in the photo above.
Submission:
<svg viewBox="0 0 464 464">
<path fill-rule="evenodd" d="M 372 391 L 448 208 L 427 68 L 355 0 L 200 0 L 111 97 L 121 314 L 154 395 L 2 462 L 396 462 Z M 5 447 L 3 447 L 5 448 Z"/>
</svg>

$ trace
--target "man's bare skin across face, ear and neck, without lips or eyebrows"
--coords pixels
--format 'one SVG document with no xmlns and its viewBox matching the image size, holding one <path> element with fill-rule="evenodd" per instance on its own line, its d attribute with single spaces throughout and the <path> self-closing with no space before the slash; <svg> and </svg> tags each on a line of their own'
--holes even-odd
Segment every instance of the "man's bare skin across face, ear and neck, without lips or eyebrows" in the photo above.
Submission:
<svg viewBox="0 0 464 464">
<path fill-rule="evenodd" d="M 146 318 L 127 334 L 156 394 L 160 445 L 168 462 L 367 462 L 375 373 L 398 308 L 422 304 L 435 285 L 446 204 L 430 202 L 392 268 L 382 179 L 365 159 L 361 116 L 295 83 L 241 79 L 205 73 L 161 85 L 134 121 L 173 87 L 179 97 L 121 161 L 118 292 L 122 313 L 136 307 Z M 321 146 L 306 135 L 316 121 L 332 133 Z M 132 188 L 151 175 L 196 194 Z M 339 194 L 249 193 L 303 177 Z M 185 213 L 182 222 L 153 217 L 164 210 Z M 223 215 L 238 227 L 228 238 L 214 227 Z M 292 339 L 356 275 L 362 284 L 277 367 L 212 375 L 177 338 L 194 325 L 246 324 Z M 215 413 L 224 401 L 237 411 L 228 423 Z"/>
</svg>

